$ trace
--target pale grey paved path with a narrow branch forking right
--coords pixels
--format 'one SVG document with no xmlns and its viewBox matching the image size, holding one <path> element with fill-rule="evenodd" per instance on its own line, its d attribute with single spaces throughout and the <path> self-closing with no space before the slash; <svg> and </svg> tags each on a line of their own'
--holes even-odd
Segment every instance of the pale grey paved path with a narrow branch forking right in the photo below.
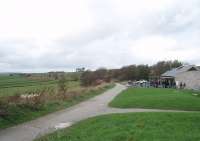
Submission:
<svg viewBox="0 0 200 141">
<path fill-rule="evenodd" d="M 182 112 L 174 110 L 109 108 L 108 103 L 124 89 L 126 89 L 125 86 L 117 84 L 113 89 L 71 108 L 2 130 L 0 131 L 0 141 L 32 141 L 40 135 L 55 131 L 56 127 L 59 127 L 61 123 L 64 123 L 63 125 L 67 126 L 88 117 L 108 113 Z"/>
</svg>

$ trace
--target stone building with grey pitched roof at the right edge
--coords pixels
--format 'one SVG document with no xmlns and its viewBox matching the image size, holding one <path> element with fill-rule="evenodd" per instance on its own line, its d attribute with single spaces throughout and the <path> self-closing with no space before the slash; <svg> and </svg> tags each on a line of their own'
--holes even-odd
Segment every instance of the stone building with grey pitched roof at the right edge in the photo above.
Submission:
<svg viewBox="0 0 200 141">
<path fill-rule="evenodd" d="M 200 68 L 194 65 L 181 66 L 161 75 L 161 79 L 169 83 L 186 84 L 186 89 L 200 90 Z"/>
</svg>

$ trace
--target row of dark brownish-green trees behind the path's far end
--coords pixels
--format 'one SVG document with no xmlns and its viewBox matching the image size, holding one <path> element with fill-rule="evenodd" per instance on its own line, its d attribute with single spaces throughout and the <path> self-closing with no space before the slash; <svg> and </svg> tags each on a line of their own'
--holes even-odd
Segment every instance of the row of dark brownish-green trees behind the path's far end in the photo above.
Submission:
<svg viewBox="0 0 200 141">
<path fill-rule="evenodd" d="M 97 85 L 100 81 L 109 82 L 111 80 L 149 80 L 149 78 L 160 77 L 164 72 L 182 66 L 183 63 L 174 61 L 159 61 L 154 65 L 129 65 L 119 69 L 99 68 L 95 71 L 86 70 L 80 77 L 83 86 Z"/>
</svg>

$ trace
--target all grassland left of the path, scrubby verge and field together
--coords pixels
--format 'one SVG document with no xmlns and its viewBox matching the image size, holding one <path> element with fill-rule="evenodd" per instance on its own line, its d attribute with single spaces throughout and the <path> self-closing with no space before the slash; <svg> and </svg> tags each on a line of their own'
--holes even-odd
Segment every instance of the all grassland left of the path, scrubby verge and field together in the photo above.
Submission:
<svg viewBox="0 0 200 141">
<path fill-rule="evenodd" d="M 19 75 L 0 75 L 0 129 L 70 107 L 114 85 L 102 84 L 98 87 L 84 88 L 80 86 L 79 81 L 67 81 L 65 86 L 67 92 L 62 95 L 59 93 L 57 80 L 42 81 Z M 43 97 L 25 100 L 20 98 L 20 95 L 40 94 L 43 91 Z M 6 111 L 3 116 L 2 111 Z"/>
</svg>

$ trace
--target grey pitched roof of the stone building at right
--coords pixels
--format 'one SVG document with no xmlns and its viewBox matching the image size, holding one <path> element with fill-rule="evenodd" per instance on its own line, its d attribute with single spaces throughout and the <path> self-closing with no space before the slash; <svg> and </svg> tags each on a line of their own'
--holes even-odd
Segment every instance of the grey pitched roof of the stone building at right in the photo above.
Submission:
<svg viewBox="0 0 200 141">
<path fill-rule="evenodd" d="M 199 67 L 196 67 L 195 65 L 186 65 L 186 66 L 181 66 L 178 68 L 174 68 L 170 71 L 167 71 L 161 75 L 161 77 L 176 77 L 177 74 L 189 71 L 190 69 L 195 68 L 196 70 L 200 70 Z"/>
</svg>

